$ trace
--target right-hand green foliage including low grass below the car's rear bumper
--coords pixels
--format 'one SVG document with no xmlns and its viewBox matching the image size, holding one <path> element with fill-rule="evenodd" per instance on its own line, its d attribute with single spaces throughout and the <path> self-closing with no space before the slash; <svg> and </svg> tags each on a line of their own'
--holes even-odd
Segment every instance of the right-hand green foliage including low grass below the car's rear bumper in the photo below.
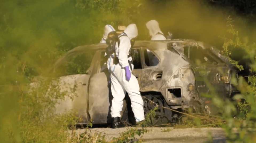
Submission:
<svg viewBox="0 0 256 143">
<path fill-rule="evenodd" d="M 231 75 L 231 84 L 233 84 L 241 94 L 236 94 L 233 97 L 234 100 L 225 100 L 220 98 L 216 93 L 216 89 L 208 84 L 211 94 L 204 94 L 202 96 L 212 99 L 212 103 L 216 105 L 221 116 L 202 116 L 201 114 L 189 112 L 190 114 L 185 114 L 186 119 L 183 124 L 181 124 L 182 126 L 175 125 L 174 127 L 222 127 L 225 130 L 227 142 L 256 142 L 256 44 L 248 45 L 248 42 L 242 42 L 232 22 L 232 19 L 228 17 L 227 23 L 229 29 L 227 31 L 229 35 L 220 38 L 224 41 L 222 53 L 226 55 L 230 62 L 236 65 L 240 71 L 244 70 L 244 68 L 238 65 L 238 61 L 234 61 L 230 58 L 232 54 L 231 51 L 234 48 L 242 48 L 248 53 L 246 57 L 243 57 L 250 59 L 250 63 L 247 63 L 250 66 L 248 81 L 246 81 L 244 77 L 236 78 L 235 75 Z M 209 83 L 207 79 L 204 80 L 206 83 Z M 209 135 L 209 137 L 211 137 L 211 135 Z"/>
</svg>

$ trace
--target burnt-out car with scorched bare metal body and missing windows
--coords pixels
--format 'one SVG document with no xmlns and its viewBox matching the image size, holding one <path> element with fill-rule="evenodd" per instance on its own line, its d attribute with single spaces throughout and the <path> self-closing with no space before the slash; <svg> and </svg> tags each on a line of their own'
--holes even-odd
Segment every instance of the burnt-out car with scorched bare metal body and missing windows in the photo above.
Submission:
<svg viewBox="0 0 256 143">
<path fill-rule="evenodd" d="M 90 120 L 94 124 L 108 123 L 110 117 L 111 91 L 109 72 L 105 67 L 105 43 L 85 45 L 68 51 L 54 64 L 50 72 L 54 72 L 71 59 L 85 59 L 86 53 L 94 53 L 88 71 L 84 74 L 65 75 L 59 77 L 62 90 L 68 94 L 76 94 L 72 99 L 66 96 L 56 105 L 55 113 L 65 113 L 76 110 L 81 124 Z M 160 105 L 152 124 L 173 121 L 177 117 L 174 110 L 192 107 L 195 112 L 211 114 L 206 98 L 201 93 L 210 90 L 205 80 L 216 87 L 224 98 L 230 98 L 238 91 L 230 82 L 231 74 L 236 70 L 219 50 L 203 42 L 194 40 L 136 41 L 131 49 L 134 69 L 132 74 L 137 77 L 141 96 L 144 100 L 145 114 Z M 149 57 L 150 55 L 151 57 Z M 154 57 L 155 64 L 150 59 Z M 88 58 L 88 57 L 87 57 Z M 67 64 L 68 65 L 68 64 Z M 67 67 L 68 68 L 68 67 Z M 149 101 L 150 100 L 150 101 Z M 151 102 L 153 101 L 153 102 Z M 123 119 L 129 113 L 129 99 L 125 100 L 122 111 Z M 156 104 L 155 104 L 156 103 Z M 128 106 L 127 106 L 128 105 Z M 166 107 L 166 108 L 163 108 Z M 172 109 L 172 110 L 169 110 Z M 130 116 L 131 117 L 131 116 Z"/>
</svg>

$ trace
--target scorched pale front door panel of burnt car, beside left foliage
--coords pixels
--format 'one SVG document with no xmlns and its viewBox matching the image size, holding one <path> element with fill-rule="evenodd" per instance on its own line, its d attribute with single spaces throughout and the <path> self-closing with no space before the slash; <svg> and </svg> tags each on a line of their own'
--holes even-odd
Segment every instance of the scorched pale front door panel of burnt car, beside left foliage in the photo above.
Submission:
<svg viewBox="0 0 256 143">
<path fill-rule="evenodd" d="M 77 112 L 81 124 L 87 124 L 88 116 L 88 82 L 90 75 L 76 74 L 60 77 L 60 92 L 66 92 L 64 100 L 58 100 L 55 113 Z M 72 100 L 73 98 L 73 100 Z"/>
</svg>

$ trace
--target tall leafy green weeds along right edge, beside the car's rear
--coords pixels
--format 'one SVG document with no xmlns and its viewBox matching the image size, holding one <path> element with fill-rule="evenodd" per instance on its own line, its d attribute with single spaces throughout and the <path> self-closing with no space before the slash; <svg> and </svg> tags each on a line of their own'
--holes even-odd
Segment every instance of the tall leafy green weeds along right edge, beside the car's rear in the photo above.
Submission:
<svg viewBox="0 0 256 143">
<path fill-rule="evenodd" d="M 242 42 L 239 38 L 238 31 L 235 31 L 234 26 L 231 24 L 231 18 L 228 17 L 228 24 L 230 29 L 228 32 L 232 35 L 230 38 L 224 38 L 223 50 L 226 55 L 231 54 L 230 50 L 234 47 L 243 48 L 248 52 L 248 57 L 252 61 L 251 72 L 255 73 L 255 44 L 248 46 L 247 43 Z M 230 60 L 231 63 L 235 64 L 236 67 L 241 71 L 243 67 L 238 65 L 237 61 Z M 205 79 L 207 81 L 207 79 Z M 211 98 L 214 101 L 213 103 L 218 106 L 219 110 L 222 113 L 222 118 L 225 120 L 225 124 L 222 124 L 221 127 L 225 129 L 227 135 L 227 142 L 255 142 L 256 132 L 252 132 L 256 127 L 256 78 L 255 75 L 248 77 L 248 83 L 239 77 L 238 79 L 234 76 L 231 78 L 231 84 L 233 84 L 241 94 L 236 94 L 231 101 L 221 100 L 214 91 L 214 88 L 210 88 L 212 91 Z M 238 107 L 239 114 L 236 118 L 233 117 L 233 113 L 236 112 L 236 107 Z M 234 132 L 233 129 L 237 129 L 237 132 Z"/>
</svg>

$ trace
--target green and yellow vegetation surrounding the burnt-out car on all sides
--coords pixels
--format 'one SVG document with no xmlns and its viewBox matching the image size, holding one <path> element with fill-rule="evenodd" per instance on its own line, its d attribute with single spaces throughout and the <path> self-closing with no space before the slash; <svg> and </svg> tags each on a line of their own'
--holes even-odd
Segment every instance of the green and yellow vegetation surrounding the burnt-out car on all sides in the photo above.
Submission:
<svg viewBox="0 0 256 143">
<path fill-rule="evenodd" d="M 231 27 L 226 33 L 225 17 L 228 15 L 220 16 L 220 12 L 216 12 L 218 10 L 205 3 L 204 6 L 200 4 L 146 0 L 0 1 L 0 142 L 106 142 L 100 134 L 85 132 L 78 138 L 68 136 L 68 125 L 74 125 L 79 119 L 74 113 L 62 116 L 51 114 L 54 105 L 65 95 L 65 92 L 60 92 L 58 85 L 51 82 L 55 78 L 38 80 L 40 88 L 31 89 L 29 84 L 66 51 L 80 45 L 99 43 L 106 24 L 117 28 L 118 25 L 136 23 L 139 29 L 138 39 L 147 39 L 145 23 L 154 18 L 163 27 L 162 31 L 173 32 L 175 38 L 223 45 L 223 54 L 229 57 L 235 54 L 232 52 L 233 48 L 239 47 L 249 53 L 245 58 L 251 61 L 248 82 L 242 77 L 231 80 L 242 92 L 234 98 L 243 98 L 242 102 L 235 104 L 223 101 L 214 94 L 215 89 L 211 88 L 213 94 L 208 96 L 212 97 L 223 116 L 212 117 L 188 112 L 184 116 L 184 122 L 175 125 L 175 128 L 221 126 L 226 130 L 230 142 L 255 142 L 256 64 L 255 43 L 251 42 L 255 39 L 255 29 L 246 24 L 243 25 L 246 29 L 239 27 L 242 35 L 249 37 L 241 38 L 229 18 Z M 235 19 L 236 21 L 239 19 Z M 216 37 L 222 35 L 226 35 L 222 37 L 222 43 L 216 42 Z M 69 68 L 61 67 L 61 75 L 86 73 L 91 54 L 75 57 L 74 62 L 67 63 Z M 231 58 L 230 61 L 243 70 L 238 61 Z M 52 88 L 48 91 L 49 87 Z M 233 118 L 233 114 L 237 112 L 236 106 L 240 112 L 237 118 Z M 128 130 L 120 138 L 114 138 L 113 142 L 131 139 L 141 142 L 136 140 L 135 135 L 146 133 L 146 124 L 147 120 L 141 124 L 142 128 Z M 238 129 L 239 136 L 232 131 L 234 127 Z"/>
</svg>

